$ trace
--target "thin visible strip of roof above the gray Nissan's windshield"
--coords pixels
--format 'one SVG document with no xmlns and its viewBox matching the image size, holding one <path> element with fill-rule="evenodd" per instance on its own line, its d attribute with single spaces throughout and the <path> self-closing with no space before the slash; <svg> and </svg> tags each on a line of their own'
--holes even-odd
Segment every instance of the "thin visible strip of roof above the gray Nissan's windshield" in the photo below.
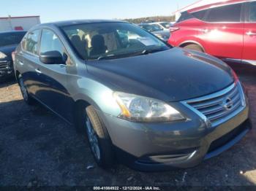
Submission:
<svg viewBox="0 0 256 191">
<path fill-rule="evenodd" d="M 40 24 L 38 26 L 72 26 L 72 25 L 79 25 L 79 24 L 86 24 L 86 23 L 127 23 L 126 21 L 122 20 L 64 20 L 64 21 L 57 21 L 53 23 L 45 23 Z"/>
</svg>

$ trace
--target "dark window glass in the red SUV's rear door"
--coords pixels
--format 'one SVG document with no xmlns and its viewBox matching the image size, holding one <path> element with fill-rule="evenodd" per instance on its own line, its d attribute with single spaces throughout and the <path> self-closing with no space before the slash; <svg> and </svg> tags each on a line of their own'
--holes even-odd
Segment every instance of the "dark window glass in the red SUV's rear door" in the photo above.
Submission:
<svg viewBox="0 0 256 191">
<path fill-rule="evenodd" d="M 240 22 L 242 4 L 230 4 L 209 9 L 208 22 Z"/>
</svg>

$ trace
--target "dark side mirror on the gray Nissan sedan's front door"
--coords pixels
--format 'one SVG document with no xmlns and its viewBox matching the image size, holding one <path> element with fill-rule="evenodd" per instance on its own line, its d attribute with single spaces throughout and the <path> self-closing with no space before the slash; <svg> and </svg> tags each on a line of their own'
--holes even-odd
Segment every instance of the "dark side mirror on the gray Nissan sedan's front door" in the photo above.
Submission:
<svg viewBox="0 0 256 191">
<path fill-rule="evenodd" d="M 64 58 L 59 51 L 44 52 L 39 56 L 39 60 L 45 64 L 61 64 L 64 63 Z"/>
</svg>

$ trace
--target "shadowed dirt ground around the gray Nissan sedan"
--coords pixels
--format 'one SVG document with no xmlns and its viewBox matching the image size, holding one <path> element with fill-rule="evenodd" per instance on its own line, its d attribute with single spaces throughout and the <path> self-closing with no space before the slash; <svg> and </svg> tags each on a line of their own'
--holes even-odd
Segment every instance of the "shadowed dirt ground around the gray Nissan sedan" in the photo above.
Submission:
<svg viewBox="0 0 256 191">
<path fill-rule="evenodd" d="M 249 91 L 256 128 L 256 68 L 236 68 Z M 186 170 L 142 173 L 124 165 L 104 171 L 86 141 L 42 106 L 27 106 L 14 81 L 0 83 L 0 185 L 256 185 L 256 131 L 232 149 Z M 88 165 L 94 168 L 87 169 Z"/>
</svg>

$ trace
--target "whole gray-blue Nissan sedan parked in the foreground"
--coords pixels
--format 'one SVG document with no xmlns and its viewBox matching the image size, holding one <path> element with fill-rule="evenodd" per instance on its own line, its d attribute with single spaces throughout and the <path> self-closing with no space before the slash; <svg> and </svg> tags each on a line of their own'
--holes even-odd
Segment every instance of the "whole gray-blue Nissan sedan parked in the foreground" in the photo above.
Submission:
<svg viewBox="0 0 256 191">
<path fill-rule="evenodd" d="M 27 104 L 36 100 L 87 134 L 102 167 L 117 158 L 141 171 L 189 168 L 251 128 L 229 66 L 131 23 L 35 26 L 16 50 L 15 75 Z"/>
</svg>

